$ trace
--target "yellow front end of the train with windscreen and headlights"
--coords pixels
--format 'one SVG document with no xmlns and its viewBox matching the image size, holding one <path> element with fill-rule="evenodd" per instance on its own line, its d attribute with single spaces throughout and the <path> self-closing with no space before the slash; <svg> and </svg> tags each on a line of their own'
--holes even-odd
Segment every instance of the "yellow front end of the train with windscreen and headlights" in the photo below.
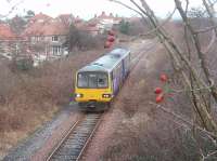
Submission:
<svg viewBox="0 0 217 161">
<path fill-rule="evenodd" d="M 112 100 L 110 75 L 103 71 L 78 71 L 75 100 L 80 107 L 104 107 Z"/>
</svg>

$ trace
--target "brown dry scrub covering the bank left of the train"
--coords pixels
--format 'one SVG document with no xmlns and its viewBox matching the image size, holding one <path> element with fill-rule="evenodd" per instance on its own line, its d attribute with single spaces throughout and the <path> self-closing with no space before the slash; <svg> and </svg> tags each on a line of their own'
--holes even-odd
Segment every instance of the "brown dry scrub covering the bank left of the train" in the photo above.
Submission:
<svg viewBox="0 0 217 161">
<path fill-rule="evenodd" d="M 0 63 L 0 156 L 69 103 L 75 71 L 102 53 L 78 52 L 26 72 Z"/>
</svg>

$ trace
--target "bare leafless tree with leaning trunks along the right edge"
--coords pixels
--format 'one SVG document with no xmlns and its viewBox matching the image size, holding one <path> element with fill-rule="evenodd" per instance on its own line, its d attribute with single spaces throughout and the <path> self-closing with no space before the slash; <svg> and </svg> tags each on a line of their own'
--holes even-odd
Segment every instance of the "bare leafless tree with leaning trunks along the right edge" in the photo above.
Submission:
<svg viewBox="0 0 217 161">
<path fill-rule="evenodd" d="M 111 1 L 133 10 L 141 15 L 142 18 L 149 19 L 146 22 L 150 23 L 152 30 L 144 35 L 154 32 L 165 46 L 174 70 L 181 76 L 184 91 L 188 91 L 190 96 L 196 118 L 196 126 L 202 130 L 205 129 L 207 134 L 216 139 L 217 123 L 213 117 L 212 109 L 217 105 L 217 84 L 214 76 L 210 73 L 212 69 L 207 62 L 207 53 L 215 44 L 217 36 L 217 24 L 215 23 L 214 16 L 214 5 L 216 1 L 202 0 L 203 9 L 190 10 L 190 0 L 186 0 L 184 3 L 181 3 L 180 0 L 174 0 L 175 10 L 178 11 L 183 24 L 184 48 L 180 46 L 180 44 L 178 44 L 163 27 L 173 17 L 173 14 L 170 14 L 170 16 L 168 16 L 169 18 L 162 24 L 145 0 L 140 0 L 140 2 L 129 0 L 131 4 L 126 4 L 118 0 Z M 197 29 L 192 25 L 192 17 L 205 17 L 210 26 Z M 204 50 L 200 36 L 209 31 L 213 32 L 212 39 Z M 205 160 L 215 153 L 216 151 L 210 152 L 205 157 L 202 152 L 202 160 Z"/>
</svg>

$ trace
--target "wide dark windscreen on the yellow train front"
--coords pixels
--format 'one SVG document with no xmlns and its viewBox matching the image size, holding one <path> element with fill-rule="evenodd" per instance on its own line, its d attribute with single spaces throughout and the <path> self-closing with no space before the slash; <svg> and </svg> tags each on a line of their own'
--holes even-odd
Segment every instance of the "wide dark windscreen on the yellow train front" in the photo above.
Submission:
<svg viewBox="0 0 217 161">
<path fill-rule="evenodd" d="M 108 86 L 107 73 L 105 72 L 79 72 L 77 86 L 82 89 L 105 89 Z"/>
</svg>

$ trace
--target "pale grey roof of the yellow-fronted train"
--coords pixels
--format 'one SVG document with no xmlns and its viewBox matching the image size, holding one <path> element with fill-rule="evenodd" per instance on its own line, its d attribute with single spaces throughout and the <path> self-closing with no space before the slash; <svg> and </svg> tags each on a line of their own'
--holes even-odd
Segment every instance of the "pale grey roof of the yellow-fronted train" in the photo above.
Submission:
<svg viewBox="0 0 217 161">
<path fill-rule="evenodd" d="M 111 71 L 129 52 L 129 50 L 125 49 L 115 49 L 79 71 Z"/>
</svg>

